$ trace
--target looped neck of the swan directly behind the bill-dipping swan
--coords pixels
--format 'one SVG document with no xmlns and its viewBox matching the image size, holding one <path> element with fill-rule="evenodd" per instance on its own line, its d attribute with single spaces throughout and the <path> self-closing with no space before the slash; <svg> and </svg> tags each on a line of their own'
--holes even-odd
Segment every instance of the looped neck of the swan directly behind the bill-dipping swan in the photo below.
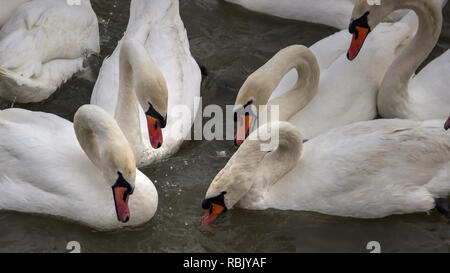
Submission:
<svg viewBox="0 0 450 273">
<path fill-rule="evenodd" d="M 280 120 L 288 120 L 305 107 L 318 91 L 320 68 L 315 55 L 308 48 L 294 45 L 280 50 L 265 65 L 248 77 L 241 89 L 244 90 L 242 93 L 248 92 L 249 94 L 245 94 L 246 96 L 253 95 L 256 106 L 266 105 L 283 77 L 292 69 L 296 69 L 298 74 L 298 80 L 294 87 L 270 101 L 271 105 L 282 106 L 280 107 Z M 239 101 L 239 97 L 237 101 Z"/>
</svg>

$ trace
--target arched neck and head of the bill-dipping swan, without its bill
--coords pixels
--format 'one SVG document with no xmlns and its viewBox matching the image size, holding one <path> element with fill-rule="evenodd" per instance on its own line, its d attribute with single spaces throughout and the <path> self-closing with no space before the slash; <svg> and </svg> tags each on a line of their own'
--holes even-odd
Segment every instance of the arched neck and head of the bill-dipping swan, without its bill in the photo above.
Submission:
<svg viewBox="0 0 450 273">
<path fill-rule="evenodd" d="M 262 144 L 272 141 L 258 140 L 256 135 L 278 135 L 278 145 L 271 151 L 263 151 Z M 300 132 L 288 122 L 267 123 L 243 143 L 225 168 L 216 176 L 206 197 L 227 192 L 225 201 L 233 207 L 244 196 L 258 196 L 291 171 L 301 157 L 303 141 Z M 251 198 L 251 197 L 250 197 Z"/>
</svg>

